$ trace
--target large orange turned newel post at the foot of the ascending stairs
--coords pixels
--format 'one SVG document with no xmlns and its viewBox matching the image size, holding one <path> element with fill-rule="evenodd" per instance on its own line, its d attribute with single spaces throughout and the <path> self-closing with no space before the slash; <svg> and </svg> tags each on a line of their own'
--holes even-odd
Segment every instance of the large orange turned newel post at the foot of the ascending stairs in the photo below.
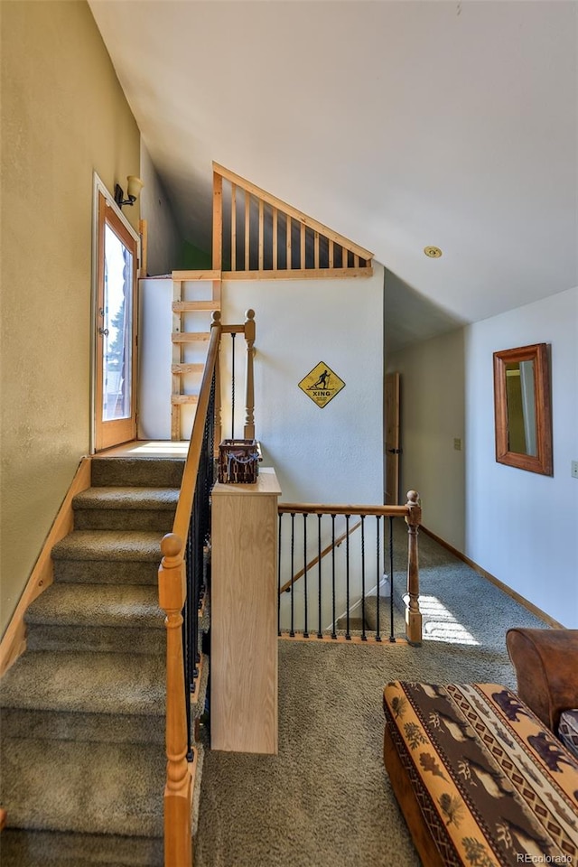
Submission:
<svg viewBox="0 0 578 867">
<path fill-rule="evenodd" d="M 164 787 L 164 867 L 191 867 L 191 773 L 186 760 L 187 718 L 182 658 L 182 607 L 186 596 L 182 540 L 163 537 L 159 604 L 166 613 L 166 785 Z"/>
</svg>

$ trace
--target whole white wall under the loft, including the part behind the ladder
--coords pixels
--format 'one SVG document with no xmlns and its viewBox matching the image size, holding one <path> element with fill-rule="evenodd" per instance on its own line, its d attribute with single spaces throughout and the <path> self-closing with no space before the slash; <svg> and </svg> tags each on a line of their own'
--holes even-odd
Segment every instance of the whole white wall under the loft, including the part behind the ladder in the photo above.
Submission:
<svg viewBox="0 0 578 867">
<path fill-rule="evenodd" d="M 374 272 L 371 278 L 223 283 L 222 322 L 244 322 L 247 308 L 256 311 L 256 436 L 285 501 L 383 501 L 383 269 L 377 265 Z M 200 297 L 203 289 L 210 293 L 210 283 L 187 283 L 185 296 Z M 172 281 L 141 281 L 140 299 L 139 436 L 166 439 L 171 435 Z M 209 321 L 191 314 L 185 327 L 208 330 Z M 242 436 L 245 340 L 239 335 L 236 342 L 235 435 Z M 222 346 L 222 435 L 229 438 L 226 335 Z M 297 385 L 320 361 L 346 384 L 322 409 Z M 198 383 L 184 386 L 194 393 Z M 191 433 L 186 410 L 183 436 Z"/>
</svg>

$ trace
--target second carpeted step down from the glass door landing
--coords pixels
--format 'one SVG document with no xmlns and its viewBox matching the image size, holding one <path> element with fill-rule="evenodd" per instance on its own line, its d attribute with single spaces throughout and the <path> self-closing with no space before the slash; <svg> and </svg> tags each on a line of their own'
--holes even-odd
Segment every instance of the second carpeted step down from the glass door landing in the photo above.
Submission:
<svg viewBox="0 0 578 867">
<path fill-rule="evenodd" d="M 178 488 L 89 488 L 72 501 L 74 527 L 170 533 L 178 499 Z"/>
</svg>

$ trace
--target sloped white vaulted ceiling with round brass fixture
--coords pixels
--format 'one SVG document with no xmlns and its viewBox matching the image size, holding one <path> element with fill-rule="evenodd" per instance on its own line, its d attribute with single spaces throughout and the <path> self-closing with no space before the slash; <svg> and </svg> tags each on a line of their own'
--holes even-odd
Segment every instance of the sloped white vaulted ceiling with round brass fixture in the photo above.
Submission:
<svg viewBox="0 0 578 867">
<path fill-rule="evenodd" d="M 578 285 L 575 2 L 89 5 L 197 246 L 215 160 L 373 250 L 400 343 Z"/>
</svg>

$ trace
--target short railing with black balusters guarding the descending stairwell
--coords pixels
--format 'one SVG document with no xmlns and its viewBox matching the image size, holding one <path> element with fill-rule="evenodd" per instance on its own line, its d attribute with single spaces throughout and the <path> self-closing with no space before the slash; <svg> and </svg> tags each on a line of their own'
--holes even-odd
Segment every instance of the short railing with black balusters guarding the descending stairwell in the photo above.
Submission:
<svg viewBox="0 0 578 867">
<path fill-rule="evenodd" d="M 415 490 L 407 493 L 405 506 L 350 506 L 303 503 L 280 503 L 279 512 L 279 609 L 278 633 L 288 627 L 291 637 L 298 633 L 309 638 L 312 631 L 318 639 L 338 638 L 337 623 L 341 611 L 345 621 L 345 639 L 352 638 L 350 610 L 352 603 L 360 605 L 361 640 L 382 640 L 381 625 L 387 611 L 380 611 L 379 585 L 387 570 L 389 576 L 389 635 L 394 642 L 394 517 L 404 518 L 407 525 L 407 602 L 406 638 L 411 644 L 421 644 L 422 615 L 419 610 L 419 566 L 417 534 L 422 510 Z M 284 516 L 290 517 L 289 532 L 284 532 Z M 316 516 L 317 521 L 309 520 Z M 336 520 L 344 519 L 340 535 Z M 351 523 L 355 518 L 355 523 Z M 389 522 L 387 536 L 386 519 Z M 354 553 L 351 537 L 356 532 Z M 329 536 L 329 539 L 328 539 Z M 382 542 L 383 539 L 383 542 Z M 344 547 L 338 559 L 337 548 Z M 389 561 L 388 566 L 387 559 Z M 325 563 L 322 561 L 325 560 Z M 295 564 L 303 566 L 295 572 Z M 284 580 L 284 575 L 289 578 Z M 298 588 L 297 588 L 298 583 Z M 376 629 L 366 628 L 366 606 L 376 592 Z M 359 595 L 359 600 L 356 598 Z M 381 620 L 383 618 L 383 620 Z M 297 626 L 297 623 L 299 626 Z M 369 633 L 373 633 L 371 636 Z"/>
</svg>

